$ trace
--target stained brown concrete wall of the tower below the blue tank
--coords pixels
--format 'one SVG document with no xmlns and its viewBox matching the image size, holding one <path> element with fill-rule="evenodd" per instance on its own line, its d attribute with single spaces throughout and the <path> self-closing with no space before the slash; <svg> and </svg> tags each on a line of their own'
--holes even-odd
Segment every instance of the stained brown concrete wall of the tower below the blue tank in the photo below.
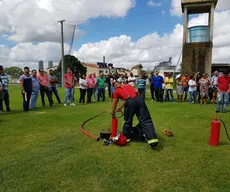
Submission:
<svg viewBox="0 0 230 192">
<path fill-rule="evenodd" d="M 186 43 L 183 46 L 182 73 L 197 71 L 211 74 L 212 43 Z"/>
</svg>

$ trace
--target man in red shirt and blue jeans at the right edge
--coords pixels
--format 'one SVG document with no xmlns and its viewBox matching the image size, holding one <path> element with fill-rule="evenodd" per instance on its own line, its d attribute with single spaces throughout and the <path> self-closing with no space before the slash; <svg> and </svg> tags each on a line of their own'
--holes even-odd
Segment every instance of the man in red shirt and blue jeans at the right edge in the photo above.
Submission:
<svg viewBox="0 0 230 192">
<path fill-rule="evenodd" d="M 217 80 L 217 107 L 216 112 L 220 112 L 220 107 L 222 105 L 222 112 L 226 113 L 226 108 L 228 106 L 228 100 L 229 100 L 229 93 L 230 93 L 230 78 L 228 75 L 228 71 L 225 71 L 221 77 Z M 223 100 L 223 102 L 222 102 Z"/>
</svg>

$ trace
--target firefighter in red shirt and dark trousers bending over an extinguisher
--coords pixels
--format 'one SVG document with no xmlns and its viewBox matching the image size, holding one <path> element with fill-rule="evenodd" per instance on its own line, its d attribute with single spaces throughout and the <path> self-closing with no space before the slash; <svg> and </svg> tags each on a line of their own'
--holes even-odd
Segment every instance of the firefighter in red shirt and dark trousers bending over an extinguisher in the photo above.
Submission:
<svg viewBox="0 0 230 192">
<path fill-rule="evenodd" d="M 118 111 L 124 107 L 124 125 L 122 132 L 126 136 L 127 142 L 130 142 L 130 139 L 132 138 L 133 116 L 136 115 L 141 125 L 145 140 L 152 148 L 155 148 L 158 144 L 158 138 L 144 99 L 140 97 L 135 88 L 129 84 L 121 85 L 119 82 L 115 82 L 114 88 L 112 116 L 115 116 L 119 99 L 124 100 L 125 103 L 118 109 Z"/>
</svg>

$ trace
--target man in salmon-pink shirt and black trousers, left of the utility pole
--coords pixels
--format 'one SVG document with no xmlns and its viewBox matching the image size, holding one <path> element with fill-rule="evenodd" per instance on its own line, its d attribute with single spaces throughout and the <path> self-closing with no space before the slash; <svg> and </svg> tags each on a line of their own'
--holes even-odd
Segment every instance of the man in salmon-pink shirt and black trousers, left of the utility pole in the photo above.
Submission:
<svg viewBox="0 0 230 192">
<path fill-rule="evenodd" d="M 45 107 L 45 94 L 49 100 L 50 107 L 53 106 L 53 101 L 51 99 L 50 90 L 49 90 L 49 78 L 48 75 L 45 74 L 43 69 L 39 69 L 38 81 L 40 83 L 40 93 L 42 99 L 42 105 Z"/>
</svg>

